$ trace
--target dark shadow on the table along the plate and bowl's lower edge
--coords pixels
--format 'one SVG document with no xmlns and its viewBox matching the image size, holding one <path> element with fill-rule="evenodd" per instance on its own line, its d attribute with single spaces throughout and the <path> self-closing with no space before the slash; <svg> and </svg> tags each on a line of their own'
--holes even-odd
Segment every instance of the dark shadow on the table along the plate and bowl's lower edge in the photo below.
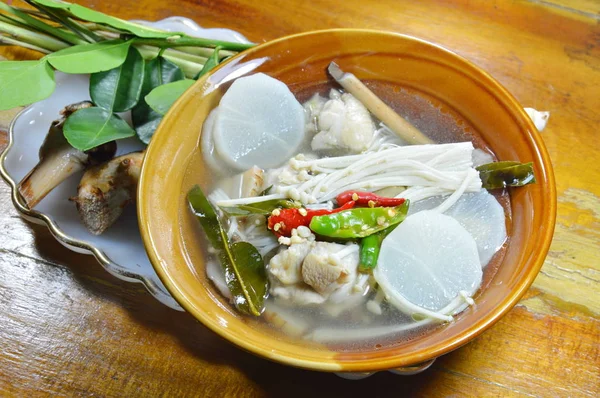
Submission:
<svg viewBox="0 0 600 398">
<path fill-rule="evenodd" d="M 227 366 L 243 373 L 266 396 L 306 397 L 315 393 L 315 386 L 319 395 L 364 396 L 364 391 L 376 397 L 394 391 L 402 391 L 407 396 L 420 395 L 430 390 L 436 379 L 446 372 L 437 361 L 427 371 L 410 377 L 379 372 L 363 380 L 349 381 L 334 374 L 297 369 L 259 358 L 213 333 L 190 314 L 161 304 L 141 284 L 119 280 L 108 274 L 93 257 L 60 245 L 45 227 L 31 225 L 31 230 L 42 259 L 68 268 L 73 279 L 94 298 L 126 310 L 131 321 L 142 326 L 149 335 L 175 337 L 185 352 L 200 363 Z M 452 356 L 452 353 L 446 355 L 443 362 L 451 361 Z M 214 371 L 215 375 L 218 373 Z M 359 394 L 357 388 L 362 393 Z"/>
</svg>

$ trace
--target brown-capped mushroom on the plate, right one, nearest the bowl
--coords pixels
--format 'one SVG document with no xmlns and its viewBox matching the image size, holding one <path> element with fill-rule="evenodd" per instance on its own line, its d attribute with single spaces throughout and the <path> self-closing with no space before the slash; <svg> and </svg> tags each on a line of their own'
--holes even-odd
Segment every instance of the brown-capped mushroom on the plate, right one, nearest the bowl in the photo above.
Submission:
<svg viewBox="0 0 600 398">
<path fill-rule="evenodd" d="M 133 152 L 86 170 L 71 198 L 79 217 L 94 235 L 100 235 L 135 201 L 143 152 Z"/>
</svg>

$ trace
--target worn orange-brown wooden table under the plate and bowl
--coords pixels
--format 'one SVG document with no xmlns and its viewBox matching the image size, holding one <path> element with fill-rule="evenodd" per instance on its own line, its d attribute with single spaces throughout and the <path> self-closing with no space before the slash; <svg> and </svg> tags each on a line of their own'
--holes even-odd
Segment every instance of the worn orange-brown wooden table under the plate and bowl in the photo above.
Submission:
<svg viewBox="0 0 600 398">
<path fill-rule="evenodd" d="M 600 2 L 80 3 L 125 19 L 183 15 L 255 42 L 361 27 L 453 49 L 524 106 L 551 112 L 543 136 L 556 172 L 556 233 L 533 287 L 491 330 L 418 376 L 351 382 L 270 363 L 221 340 L 23 221 L 0 184 L 0 396 L 600 394 Z"/>
</svg>

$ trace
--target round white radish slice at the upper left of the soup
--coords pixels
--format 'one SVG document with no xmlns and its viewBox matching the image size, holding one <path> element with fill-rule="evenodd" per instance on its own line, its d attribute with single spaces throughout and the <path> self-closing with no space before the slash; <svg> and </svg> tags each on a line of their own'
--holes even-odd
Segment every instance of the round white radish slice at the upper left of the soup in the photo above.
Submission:
<svg viewBox="0 0 600 398">
<path fill-rule="evenodd" d="M 281 81 L 263 73 L 233 82 L 219 103 L 213 139 L 218 155 L 246 170 L 280 166 L 304 138 L 304 108 Z"/>
</svg>

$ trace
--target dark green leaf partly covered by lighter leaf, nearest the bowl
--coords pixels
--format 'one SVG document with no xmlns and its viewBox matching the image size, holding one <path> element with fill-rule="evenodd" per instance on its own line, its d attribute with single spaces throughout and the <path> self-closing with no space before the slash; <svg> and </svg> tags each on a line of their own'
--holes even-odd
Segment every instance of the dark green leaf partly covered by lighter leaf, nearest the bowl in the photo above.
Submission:
<svg viewBox="0 0 600 398">
<path fill-rule="evenodd" d="M 184 78 L 183 71 L 177 65 L 163 57 L 156 57 L 148 61 L 144 68 L 141 97 L 145 97 L 150 91 L 162 84 Z M 142 142 L 147 144 L 150 142 L 154 131 L 156 131 L 162 115 L 152 110 L 146 101 L 139 101 L 131 111 L 131 118 L 136 134 Z"/>
</svg>

